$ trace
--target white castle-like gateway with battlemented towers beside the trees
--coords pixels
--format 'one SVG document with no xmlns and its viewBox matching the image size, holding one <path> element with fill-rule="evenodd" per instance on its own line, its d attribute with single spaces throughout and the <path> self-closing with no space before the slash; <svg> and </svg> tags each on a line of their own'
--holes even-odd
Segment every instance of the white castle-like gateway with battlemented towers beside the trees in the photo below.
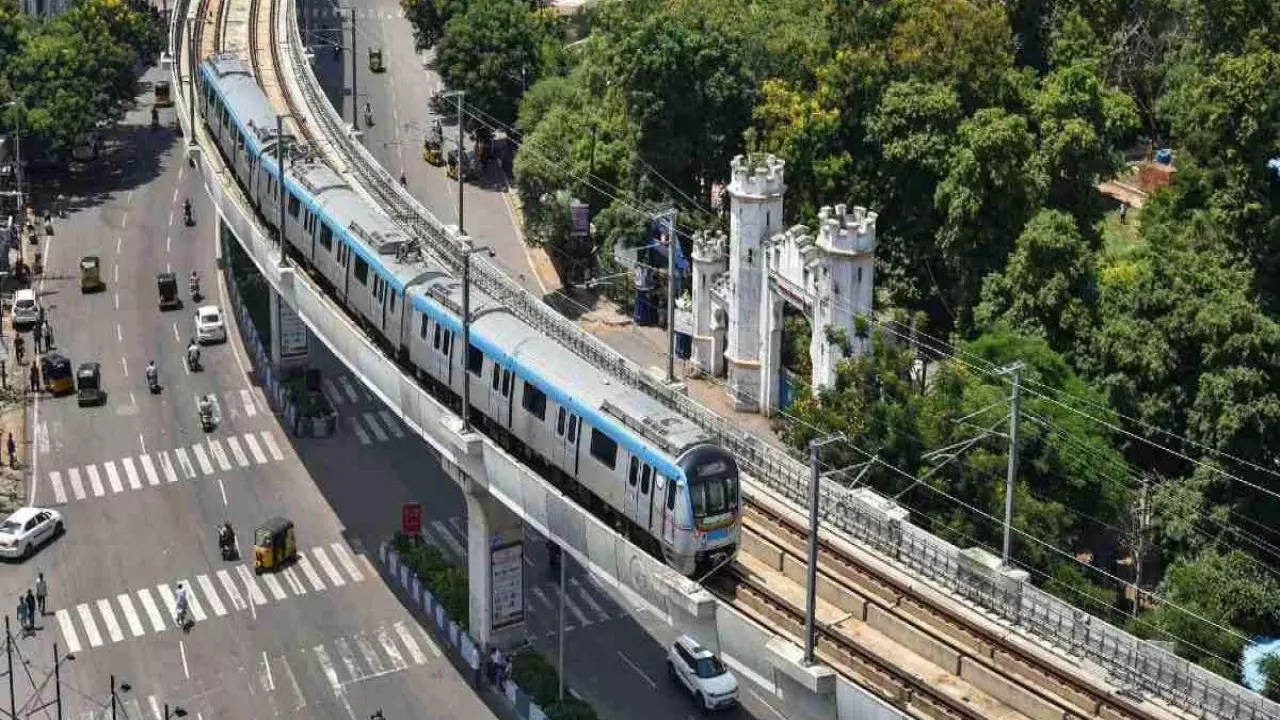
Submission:
<svg viewBox="0 0 1280 720">
<path fill-rule="evenodd" d="M 781 387 L 782 305 L 809 316 L 814 388 L 829 387 L 846 356 L 828 331 L 844 331 L 854 354 L 867 340 L 855 318 L 870 315 L 876 213 L 836 205 L 782 233 L 785 163 L 773 155 L 733 158 L 730 236 L 699 234 L 692 252 L 692 366 L 727 374 L 737 410 L 773 414 Z M 727 245 L 727 247 L 726 247 Z"/>
</svg>

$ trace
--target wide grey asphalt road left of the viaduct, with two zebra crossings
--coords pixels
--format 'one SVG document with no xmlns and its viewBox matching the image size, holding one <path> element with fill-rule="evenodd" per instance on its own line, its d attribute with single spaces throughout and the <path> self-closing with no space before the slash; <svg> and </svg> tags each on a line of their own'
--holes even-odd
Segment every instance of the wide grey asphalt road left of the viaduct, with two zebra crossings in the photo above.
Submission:
<svg viewBox="0 0 1280 720">
<path fill-rule="evenodd" d="M 355 432 L 294 441 L 251 384 L 234 331 L 204 350 L 205 372 L 184 369 L 195 310 L 186 275 L 197 269 L 207 301 L 227 301 L 212 209 L 180 140 L 146 127 L 148 109 L 150 99 L 69 183 L 81 190 L 61 190 L 73 210 L 55 220 L 37 286 L 55 350 L 100 363 L 109 397 L 82 409 L 74 396 L 45 396 L 31 414 L 32 500 L 61 511 L 67 533 L 0 569 L 9 615 L 37 571 L 50 588 L 49 614 L 14 644 L 15 705 L 54 700 L 56 642 L 74 656 L 59 669 L 64 717 L 110 717 L 113 675 L 128 685 L 116 692 L 122 717 L 157 716 L 164 703 L 209 720 L 355 720 L 378 708 L 388 719 L 494 717 L 367 560 L 398 512 L 384 489 L 403 482 L 379 470 L 383 459 L 448 487 L 430 477 L 424 446 L 389 424 L 385 442 L 371 428 L 367 445 Z M 161 117 L 170 122 L 172 110 Z M 188 195 L 193 228 L 182 222 Z M 101 258 L 104 292 L 81 293 L 82 255 Z M 155 274 L 166 269 L 184 306 L 161 313 Z M 159 395 L 143 378 L 152 359 Z M 221 415 L 209 434 L 196 415 L 202 393 L 215 395 Z M 317 448 L 333 460 L 316 462 Z M 297 524 L 296 565 L 255 578 L 244 560 L 221 559 L 218 524 L 234 525 L 248 556 L 252 528 L 271 515 Z M 178 582 L 193 587 L 188 632 L 166 607 Z M 8 710 L 5 701 L 0 685 Z M 54 717 L 54 708 L 23 715 Z"/>
</svg>

